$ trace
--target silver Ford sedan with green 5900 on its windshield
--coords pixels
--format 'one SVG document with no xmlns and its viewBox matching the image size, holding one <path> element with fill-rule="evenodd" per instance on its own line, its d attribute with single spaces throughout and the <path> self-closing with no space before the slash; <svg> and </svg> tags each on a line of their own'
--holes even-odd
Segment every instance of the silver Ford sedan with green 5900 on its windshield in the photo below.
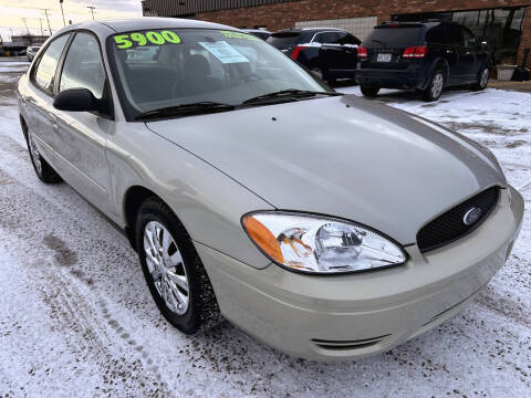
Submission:
<svg viewBox="0 0 531 398">
<path fill-rule="evenodd" d="M 17 93 L 38 177 L 124 231 L 184 333 L 223 316 L 299 357 L 383 352 L 460 311 L 520 230 L 488 149 L 230 27 L 71 25 Z"/>
</svg>

